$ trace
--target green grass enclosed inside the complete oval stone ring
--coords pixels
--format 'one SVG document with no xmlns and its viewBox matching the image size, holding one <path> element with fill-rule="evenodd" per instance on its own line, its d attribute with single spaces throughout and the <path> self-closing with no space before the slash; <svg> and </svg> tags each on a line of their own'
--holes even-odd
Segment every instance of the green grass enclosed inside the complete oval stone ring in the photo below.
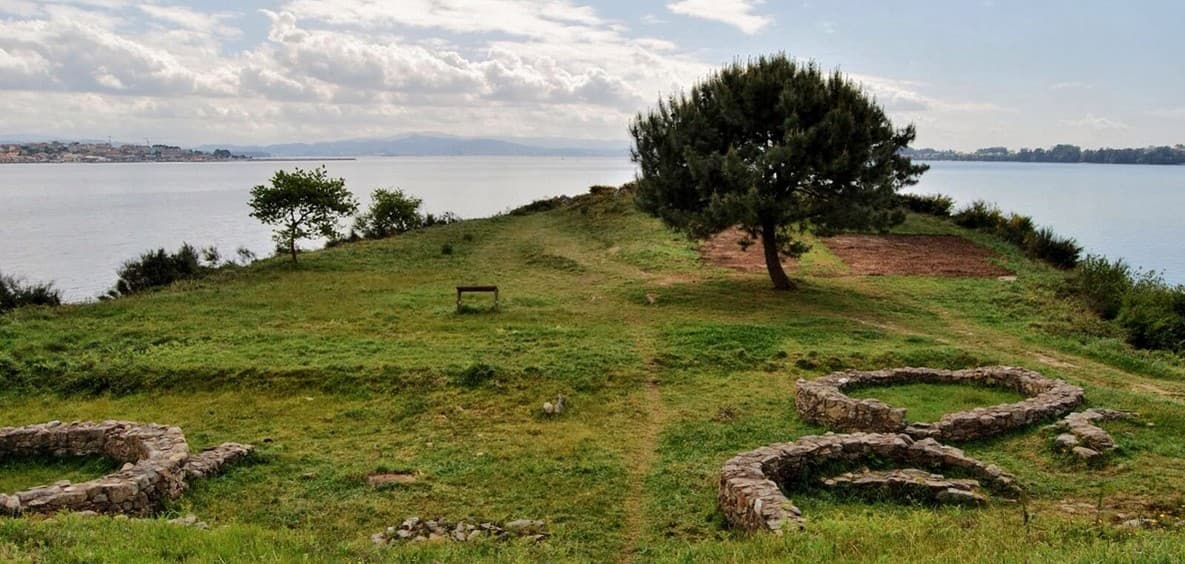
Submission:
<svg viewBox="0 0 1185 564">
<path fill-rule="evenodd" d="M 877 398 L 893 408 L 905 408 L 905 421 L 910 423 L 935 422 L 944 414 L 1014 403 L 1025 398 L 1012 390 L 957 384 L 870 386 L 846 393 L 853 398 Z"/>
</svg>

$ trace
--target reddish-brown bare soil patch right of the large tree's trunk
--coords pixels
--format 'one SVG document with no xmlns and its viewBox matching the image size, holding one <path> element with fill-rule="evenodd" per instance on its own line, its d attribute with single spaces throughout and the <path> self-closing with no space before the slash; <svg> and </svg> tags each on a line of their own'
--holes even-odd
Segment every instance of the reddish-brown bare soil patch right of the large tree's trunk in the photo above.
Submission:
<svg viewBox="0 0 1185 564">
<path fill-rule="evenodd" d="M 953 235 L 839 235 L 822 239 L 852 274 L 870 276 L 1011 275 L 995 252 Z"/>
</svg>

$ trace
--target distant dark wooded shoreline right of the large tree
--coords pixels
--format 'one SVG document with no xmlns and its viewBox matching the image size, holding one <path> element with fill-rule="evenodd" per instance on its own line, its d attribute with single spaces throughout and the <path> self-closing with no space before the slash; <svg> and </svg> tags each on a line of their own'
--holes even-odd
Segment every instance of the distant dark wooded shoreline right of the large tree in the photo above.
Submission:
<svg viewBox="0 0 1185 564">
<path fill-rule="evenodd" d="M 998 161 L 998 162 L 1093 162 L 1098 165 L 1183 165 L 1185 145 L 1126 149 L 1083 149 L 1076 145 L 1055 145 L 1048 149 L 1010 150 L 1007 147 L 987 147 L 974 153 L 941 149 L 902 152 L 909 158 L 925 161 Z"/>
</svg>

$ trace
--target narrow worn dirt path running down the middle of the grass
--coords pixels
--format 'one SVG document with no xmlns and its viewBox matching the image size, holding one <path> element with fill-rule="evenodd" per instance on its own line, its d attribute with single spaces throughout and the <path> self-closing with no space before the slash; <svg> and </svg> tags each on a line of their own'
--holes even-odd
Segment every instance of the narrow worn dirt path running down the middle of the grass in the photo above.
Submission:
<svg viewBox="0 0 1185 564">
<path fill-rule="evenodd" d="M 626 521 L 623 524 L 626 538 L 621 547 L 621 556 L 617 558 L 617 562 L 622 563 L 634 560 L 638 541 L 646 532 L 646 476 L 654 470 L 658 462 L 659 435 L 662 432 L 667 416 L 662 405 L 662 393 L 659 390 L 660 380 L 654 376 L 659 370 L 654 363 L 656 352 L 654 337 L 639 337 L 636 348 L 646 359 L 649 376 L 647 376 L 640 395 L 642 405 L 638 405 L 635 409 L 635 412 L 639 414 L 634 429 L 638 440 L 629 453 L 629 492 L 626 494 Z"/>
</svg>

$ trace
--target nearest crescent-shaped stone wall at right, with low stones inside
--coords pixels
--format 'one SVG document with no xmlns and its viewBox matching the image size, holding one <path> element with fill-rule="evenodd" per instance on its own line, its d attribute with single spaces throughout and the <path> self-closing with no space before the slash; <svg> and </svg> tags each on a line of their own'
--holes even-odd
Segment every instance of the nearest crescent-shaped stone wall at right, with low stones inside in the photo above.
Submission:
<svg viewBox="0 0 1185 564">
<path fill-rule="evenodd" d="M 860 464 L 871 459 L 911 468 L 953 470 L 978 479 L 988 488 L 1017 495 L 1016 479 L 994 464 L 985 464 L 962 450 L 940 444 L 933 438 L 915 441 L 905 434 L 854 432 L 845 435 L 806 436 L 790 443 L 770 444 L 742 453 L 724 464 L 717 501 L 725 518 L 736 527 L 748 531 L 780 532 L 787 525 L 801 525 L 802 512 L 786 498 L 782 488 L 807 485 L 815 470 L 835 463 Z M 834 485 L 872 480 L 876 487 L 890 488 L 908 495 L 929 492 L 935 501 L 948 504 L 979 504 L 982 496 L 974 492 L 972 481 L 952 482 L 942 475 L 910 470 L 907 474 L 865 474 L 832 479 Z M 872 483 L 872 482 L 866 482 Z M 826 485 L 826 481 L 825 481 Z M 897 489 L 903 488 L 903 489 Z"/>
</svg>

